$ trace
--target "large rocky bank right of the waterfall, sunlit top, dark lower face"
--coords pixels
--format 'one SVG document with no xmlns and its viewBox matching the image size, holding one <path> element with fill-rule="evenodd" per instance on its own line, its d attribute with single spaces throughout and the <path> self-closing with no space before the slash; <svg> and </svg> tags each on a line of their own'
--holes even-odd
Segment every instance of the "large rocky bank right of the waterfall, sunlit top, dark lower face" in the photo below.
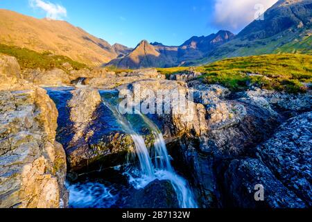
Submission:
<svg viewBox="0 0 312 222">
<path fill-rule="evenodd" d="M 207 86 L 196 81 L 191 81 L 188 85 L 191 88 L 179 81 L 139 80 L 123 85 L 119 89 L 128 89 L 134 93 L 140 87 L 142 90 L 139 103 L 142 104 L 146 100 L 148 101 L 150 96 L 148 91 L 150 90 L 154 94 L 157 94 L 159 90 L 164 91 L 169 97 L 174 97 L 177 90 L 180 91 L 179 96 L 182 97 L 187 97 L 193 92 L 194 100 L 187 101 L 187 106 L 184 107 L 184 111 L 187 112 L 175 112 L 176 101 L 173 100 L 170 101 L 173 103 L 170 112 L 150 115 L 150 117 L 157 119 L 162 124 L 162 132 L 168 146 L 175 153 L 174 156 L 178 156 L 175 161 L 180 162 L 182 169 L 189 169 L 190 178 L 192 178 L 193 186 L 197 188 L 198 201 L 202 207 L 223 207 L 229 198 L 233 203 L 232 207 L 247 207 L 248 205 L 250 207 L 306 207 L 309 205 L 309 192 L 302 197 L 303 194 L 297 194 L 298 191 L 295 191 L 298 188 L 290 189 L 286 183 L 289 182 L 291 186 L 309 190 L 311 187 L 305 181 L 311 180 L 310 178 L 297 178 L 297 180 L 292 181 L 282 180 L 279 176 L 275 177 L 277 175 L 275 171 L 277 169 L 278 172 L 282 171 L 283 163 L 276 163 L 270 167 L 270 164 L 266 164 L 264 160 L 261 162 L 255 157 L 259 152 L 257 146 L 270 139 L 285 119 L 311 110 L 310 94 L 290 95 L 259 89 L 231 94 L 228 89 L 218 85 Z M 148 89 L 147 92 L 144 92 L 144 89 Z M 297 101 L 297 107 L 291 100 Z M 153 104 L 158 101 L 150 100 L 149 102 Z M 191 112 L 189 112 L 190 110 Z M 301 121 L 297 119 L 296 122 L 300 124 Z M 306 128 L 304 124 L 302 125 Z M 293 125 L 291 128 L 298 130 Z M 291 132 L 291 130 L 289 131 Z M 304 138 L 311 137 L 309 130 L 301 131 L 304 132 Z M 295 141 L 300 143 L 300 139 L 297 137 L 299 136 L 296 136 Z M 276 141 L 276 139 L 272 141 Z M 311 145 L 307 142 L 306 146 Z M 307 149 L 304 148 L 304 151 L 297 152 L 306 153 Z M 276 158 L 279 160 L 279 155 L 283 155 L 283 151 L 277 149 L 277 153 Z M 291 153 L 293 152 L 290 151 L 290 153 L 285 154 L 285 156 L 290 155 L 287 160 L 289 158 L 292 160 Z M 272 152 L 270 151 L 267 156 L 271 155 Z M 246 162 L 236 161 L 245 160 L 245 158 L 250 158 L 250 160 L 246 159 Z M 293 166 L 294 169 L 308 170 L 311 166 L 306 154 L 304 157 L 295 156 L 293 158 L 293 164 L 296 160 L 304 161 L 300 167 Z M 271 161 L 276 162 L 276 160 Z M 292 166 L 292 164 L 288 165 Z M 241 168 L 241 166 L 247 167 Z M 272 168 L 275 170 L 273 171 Z M 287 173 L 291 173 L 291 169 L 289 171 L 284 169 L 281 174 L 286 176 Z M 237 178 L 236 174 L 238 175 Z M 243 176 L 245 174 L 246 177 Z M 291 173 L 291 175 L 297 174 L 299 174 L 297 171 Z M 306 174 L 304 173 L 304 175 Z M 249 191 L 250 186 L 254 185 L 254 182 L 261 182 L 259 180 L 249 181 L 248 175 L 250 178 L 258 175 L 263 178 L 261 181 L 268 189 L 268 201 L 266 203 L 254 203 L 254 198 L 248 200 L 250 195 L 254 194 Z M 226 185 L 223 184 L 224 180 L 227 181 Z M 248 185 L 246 184 L 245 188 L 241 188 L 245 189 L 244 191 L 237 191 L 240 181 L 243 180 L 248 180 Z M 234 181 L 234 183 L 230 181 Z M 226 196 L 225 189 L 233 191 L 231 197 L 229 197 L 230 195 Z M 249 193 L 247 194 L 246 191 Z M 250 204 L 244 205 L 244 198 L 247 198 L 246 203 Z M 288 203 L 286 203 L 286 199 Z"/>
</svg>

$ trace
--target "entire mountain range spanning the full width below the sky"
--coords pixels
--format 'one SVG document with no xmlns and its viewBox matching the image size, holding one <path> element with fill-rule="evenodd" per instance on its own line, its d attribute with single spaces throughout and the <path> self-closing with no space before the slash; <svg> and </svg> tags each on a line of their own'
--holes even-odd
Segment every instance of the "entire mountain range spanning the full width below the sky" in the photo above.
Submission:
<svg viewBox="0 0 312 222">
<path fill-rule="evenodd" d="M 219 31 L 194 36 L 181 46 L 141 41 L 135 49 L 110 45 L 63 21 L 0 10 L 0 42 L 50 51 L 87 65 L 126 69 L 202 65 L 223 58 L 268 53 L 312 54 L 312 0 L 279 0 L 238 35 Z"/>
</svg>

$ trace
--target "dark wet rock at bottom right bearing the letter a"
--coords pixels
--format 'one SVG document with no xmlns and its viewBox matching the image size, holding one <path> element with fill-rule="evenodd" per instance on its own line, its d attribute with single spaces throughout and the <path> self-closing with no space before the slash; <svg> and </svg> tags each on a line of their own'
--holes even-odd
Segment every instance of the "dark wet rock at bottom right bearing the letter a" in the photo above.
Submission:
<svg viewBox="0 0 312 222">
<path fill-rule="evenodd" d="M 227 207 L 242 208 L 302 208 L 304 202 L 287 189 L 274 174 L 259 160 L 247 158 L 233 160 L 225 172 L 225 191 L 228 195 Z M 263 187 L 263 201 L 255 198 Z M 255 189 L 255 187 L 257 189 Z M 257 197 L 257 196 L 256 196 Z"/>
</svg>

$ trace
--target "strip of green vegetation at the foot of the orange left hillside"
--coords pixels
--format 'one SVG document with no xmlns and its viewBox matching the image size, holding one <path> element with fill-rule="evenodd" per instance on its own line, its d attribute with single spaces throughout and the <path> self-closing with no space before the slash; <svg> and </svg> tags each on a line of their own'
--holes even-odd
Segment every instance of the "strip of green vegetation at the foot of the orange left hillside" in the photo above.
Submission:
<svg viewBox="0 0 312 222">
<path fill-rule="evenodd" d="M 37 53 L 30 49 L 22 49 L 17 46 L 7 46 L 5 44 L 0 44 L 0 53 L 17 58 L 21 69 L 64 69 L 62 65 L 65 62 L 68 62 L 76 70 L 87 67 L 87 65 L 75 62 L 66 56 L 55 56 L 50 52 Z"/>
</svg>

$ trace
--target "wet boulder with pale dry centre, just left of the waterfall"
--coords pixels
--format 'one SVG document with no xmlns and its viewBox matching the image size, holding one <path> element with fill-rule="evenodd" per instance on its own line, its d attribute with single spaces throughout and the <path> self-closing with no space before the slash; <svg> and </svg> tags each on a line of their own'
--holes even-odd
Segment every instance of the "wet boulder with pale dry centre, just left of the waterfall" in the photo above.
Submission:
<svg viewBox="0 0 312 222">
<path fill-rule="evenodd" d="M 57 137 L 67 153 L 71 171 L 123 164 L 135 144 L 103 105 L 98 90 L 85 87 L 49 94 L 61 113 Z"/>
</svg>

